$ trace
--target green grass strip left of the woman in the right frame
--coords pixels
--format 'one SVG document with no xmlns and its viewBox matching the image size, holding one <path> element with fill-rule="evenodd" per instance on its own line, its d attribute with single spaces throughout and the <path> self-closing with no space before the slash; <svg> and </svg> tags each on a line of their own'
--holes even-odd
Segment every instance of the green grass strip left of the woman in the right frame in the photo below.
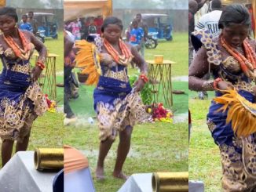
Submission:
<svg viewBox="0 0 256 192">
<path fill-rule="evenodd" d="M 209 94 L 210 93 L 210 94 Z M 214 92 L 209 100 L 197 100 L 197 92 L 189 92 L 192 114 L 192 135 L 189 144 L 189 179 L 202 180 L 205 191 L 221 191 L 221 155 L 207 126 L 206 117 Z"/>
</svg>

